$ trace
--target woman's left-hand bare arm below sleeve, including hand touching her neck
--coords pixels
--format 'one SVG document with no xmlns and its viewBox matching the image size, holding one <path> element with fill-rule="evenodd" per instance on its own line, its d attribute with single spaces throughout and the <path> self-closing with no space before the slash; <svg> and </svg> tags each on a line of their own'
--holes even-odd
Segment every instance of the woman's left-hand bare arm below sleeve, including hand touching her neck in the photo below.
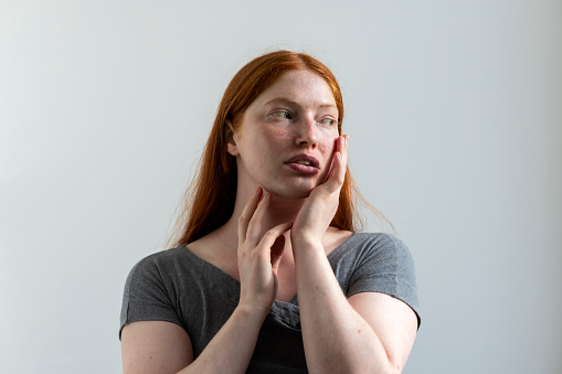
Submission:
<svg viewBox="0 0 562 374">
<path fill-rule="evenodd" d="M 121 332 L 124 373 L 245 373 L 259 329 L 277 295 L 277 267 L 290 223 L 262 234 L 269 202 L 257 190 L 238 221 L 238 306 L 193 361 L 191 340 L 179 325 L 165 321 L 127 324 Z"/>
</svg>

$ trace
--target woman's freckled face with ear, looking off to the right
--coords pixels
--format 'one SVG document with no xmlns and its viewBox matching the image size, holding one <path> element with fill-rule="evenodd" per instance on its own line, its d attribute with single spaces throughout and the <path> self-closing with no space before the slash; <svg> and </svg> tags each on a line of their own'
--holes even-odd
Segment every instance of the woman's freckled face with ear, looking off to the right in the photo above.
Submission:
<svg viewBox="0 0 562 374">
<path fill-rule="evenodd" d="M 329 172 L 338 138 L 330 86 L 309 71 L 289 71 L 246 109 L 227 150 L 236 157 L 238 189 L 263 186 L 304 199 Z"/>
</svg>

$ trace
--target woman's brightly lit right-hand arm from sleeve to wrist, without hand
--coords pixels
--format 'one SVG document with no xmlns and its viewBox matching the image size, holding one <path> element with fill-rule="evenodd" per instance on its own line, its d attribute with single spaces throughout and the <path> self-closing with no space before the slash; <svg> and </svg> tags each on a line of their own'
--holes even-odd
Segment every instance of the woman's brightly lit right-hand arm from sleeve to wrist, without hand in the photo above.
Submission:
<svg viewBox="0 0 562 374">
<path fill-rule="evenodd" d="M 346 299 L 321 244 L 293 246 L 309 372 L 400 373 L 416 334 L 412 309 L 377 292 Z"/>
</svg>

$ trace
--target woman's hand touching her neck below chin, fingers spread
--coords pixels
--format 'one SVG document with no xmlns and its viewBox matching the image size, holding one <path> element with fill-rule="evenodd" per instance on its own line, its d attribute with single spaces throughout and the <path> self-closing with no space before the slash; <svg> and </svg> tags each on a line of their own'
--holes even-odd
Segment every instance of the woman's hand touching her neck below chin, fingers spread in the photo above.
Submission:
<svg viewBox="0 0 562 374">
<path fill-rule="evenodd" d="M 271 193 L 257 188 L 238 218 L 240 303 L 269 312 L 277 297 L 277 269 L 285 246 L 283 234 L 291 222 L 265 233 L 262 221 L 269 205 Z"/>
</svg>

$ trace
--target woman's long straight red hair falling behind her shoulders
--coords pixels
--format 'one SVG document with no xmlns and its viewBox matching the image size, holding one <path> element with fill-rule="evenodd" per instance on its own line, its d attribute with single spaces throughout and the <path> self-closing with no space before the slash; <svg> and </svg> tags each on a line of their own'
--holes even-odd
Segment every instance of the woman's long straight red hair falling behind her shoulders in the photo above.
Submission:
<svg viewBox="0 0 562 374">
<path fill-rule="evenodd" d="M 341 133 L 341 90 L 333 74 L 321 62 L 308 54 L 290 51 L 276 51 L 252 60 L 234 75 L 224 92 L 199 161 L 199 172 L 185 192 L 168 244 L 178 246 L 194 242 L 224 225 L 232 216 L 237 172 L 235 158 L 226 151 L 226 143 L 232 137 L 229 124 L 236 130 L 250 104 L 285 72 L 293 70 L 308 70 L 328 83 L 338 107 L 338 131 Z M 358 224 L 362 222 L 357 212 L 356 196 L 362 199 L 348 169 L 331 226 L 348 231 L 359 228 Z"/>
</svg>

